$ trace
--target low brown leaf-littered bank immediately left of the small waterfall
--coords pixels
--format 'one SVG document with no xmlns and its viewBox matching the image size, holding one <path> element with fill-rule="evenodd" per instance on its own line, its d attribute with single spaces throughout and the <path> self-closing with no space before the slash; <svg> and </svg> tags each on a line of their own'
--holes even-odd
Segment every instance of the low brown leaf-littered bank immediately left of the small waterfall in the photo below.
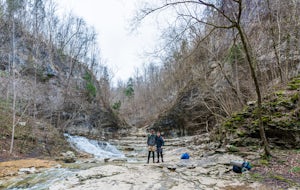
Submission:
<svg viewBox="0 0 300 190">
<path fill-rule="evenodd" d="M 9 154 L 12 132 L 12 112 L 6 102 L 0 102 L 0 161 L 23 157 L 58 156 L 71 150 L 59 130 L 43 120 L 17 115 L 13 155 Z"/>
</svg>

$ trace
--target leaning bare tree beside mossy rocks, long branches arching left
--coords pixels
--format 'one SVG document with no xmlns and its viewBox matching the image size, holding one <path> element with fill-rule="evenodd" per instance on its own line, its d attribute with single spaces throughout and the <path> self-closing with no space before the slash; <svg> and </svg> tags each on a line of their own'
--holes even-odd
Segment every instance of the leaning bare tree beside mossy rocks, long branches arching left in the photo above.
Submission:
<svg viewBox="0 0 300 190">
<path fill-rule="evenodd" d="M 243 0 L 223 0 L 220 2 L 214 1 L 176 1 L 170 0 L 166 1 L 163 5 L 158 6 L 156 8 L 146 7 L 141 10 L 141 15 L 138 17 L 138 21 L 143 20 L 146 16 L 159 12 L 165 9 L 175 9 L 178 13 L 178 16 L 184 18 L 185 20 L 189 20 L 189 26 L 192 27 L 195 23 L 203 24 L 209 28 L 211 31 L 216 29 L 236 29 L 237 35 L 240 38 L 242 47 L 244 49 L 246 60 L 248 62 L 249 70 L 251 73 L 251 77 L 253 83 L 255 85 L 255 91 L 257 95 L 257 117 L 259 119 L 259 130 L 260 136 L 263 141 L 263 147 L 265 150 L 266 156 L 271 155 L 270 148 L 268 145 L 268 141 L 265 135 L 265 129 L 262 122 L 262 95 L 260 90 L 260 85 L 258 82 L 258 77 L 256 74 L 256 59 L 251 48 L 250 42 L 248 41 L 247 34 L 244 30 L 244 27 L 247 27 L 245 23 L 243 23 Z M 213 20 L 206 19 L 203 14 L 199 12 L 199 10 L 203 10 L 197 7 L 203 7 L 203 9 L 212 10 L 213 14 L 216 14 L 219 18 L 222 18 L 223 21 L 214 22 Z M 185 31 L 183 31 L 185 32 Z M 210 34 L 210 33 L 208 33 Z"/>
</svg>

